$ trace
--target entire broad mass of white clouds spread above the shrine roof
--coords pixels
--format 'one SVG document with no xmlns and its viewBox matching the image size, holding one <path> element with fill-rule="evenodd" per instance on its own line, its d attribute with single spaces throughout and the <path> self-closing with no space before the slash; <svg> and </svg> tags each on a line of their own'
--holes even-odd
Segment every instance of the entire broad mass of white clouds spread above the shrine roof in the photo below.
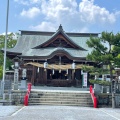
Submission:
<svg viewBox="0 0 120 120">
<path fill-rule="evenodd" d="M 39 8 L 23 9 L 21 16 L 34 18 L 42 15 L 42 22 L 30 26 L 32 30 L 55 31 L 56 26 L 62 24 L 65 31 L 90 32 L 93 27 L 104 29 L 114 24 L 116 16 L 120 14 L 119 11 L 110 13 L 106 8 L 95 5 L 94 0 L 82 0 L 79 3 L 76 0 L 28 0 L 28 4 Z"/>
</svg>

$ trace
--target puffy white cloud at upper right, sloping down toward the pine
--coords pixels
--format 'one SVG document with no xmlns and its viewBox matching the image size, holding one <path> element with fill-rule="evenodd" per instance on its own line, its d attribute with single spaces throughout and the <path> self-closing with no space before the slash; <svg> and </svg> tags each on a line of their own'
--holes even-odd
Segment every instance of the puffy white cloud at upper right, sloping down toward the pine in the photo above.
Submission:
<svg viewBox="0 0 120 120">
<path fill-rule="evenodd" d="M 94 5 L 94 0 L 82 0 L 79 4 L 79 11 L 85 22 L 111 24 L 116 21 L 114 13 L 109 13 L 105 8 Z"/>
</svg>

